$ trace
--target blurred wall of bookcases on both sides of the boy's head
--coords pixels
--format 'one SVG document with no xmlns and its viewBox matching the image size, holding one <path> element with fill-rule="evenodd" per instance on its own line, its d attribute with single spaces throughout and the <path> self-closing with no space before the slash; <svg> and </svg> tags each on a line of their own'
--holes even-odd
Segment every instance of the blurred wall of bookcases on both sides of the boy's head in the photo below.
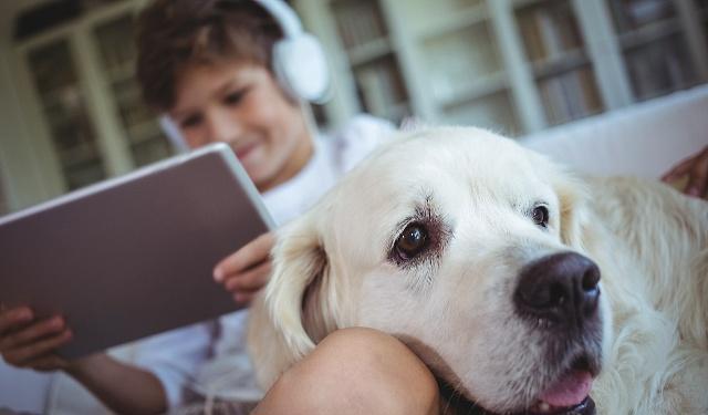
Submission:
<svg viewBox="0 0 708 415">
<path fill-rule="evenodd" d="M 134 79 L 145 0 L 0 2 L 0 215 L 169 156 Z M 315 107 L 523 136 L 708 82 L 708 0 L 293 0 Z M 708 116 L 708 114 L 706 114 Z"/>
</svg>

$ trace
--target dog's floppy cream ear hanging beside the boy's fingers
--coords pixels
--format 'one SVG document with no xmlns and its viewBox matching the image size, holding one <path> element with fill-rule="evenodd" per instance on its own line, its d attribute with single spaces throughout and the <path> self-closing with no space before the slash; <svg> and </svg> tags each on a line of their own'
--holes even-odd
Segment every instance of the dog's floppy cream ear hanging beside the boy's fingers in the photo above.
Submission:
<svg viewBox="0 0 708 415">
<path fill-rule="evenodd" d="M 310 211 L 278 237 L 266 303 L 294 360 L 336 330 L 335 281 L 323 243 L 322 215 Z"/>
</svg>

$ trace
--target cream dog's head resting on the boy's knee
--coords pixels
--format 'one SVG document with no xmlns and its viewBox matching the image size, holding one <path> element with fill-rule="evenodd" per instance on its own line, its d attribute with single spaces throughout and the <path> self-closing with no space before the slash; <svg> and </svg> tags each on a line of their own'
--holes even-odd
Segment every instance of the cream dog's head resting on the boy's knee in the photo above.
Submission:
<svg viewBox="0 0 708 415">
<path fill-rule="evenodd" d="M 582 181 L 510 139 L 409 133 L 281 234 L 271 323 L 293 360 L 369 326 L 489 412 L 579 411 L 608 335 L 584 203 Z"/>
</svg>

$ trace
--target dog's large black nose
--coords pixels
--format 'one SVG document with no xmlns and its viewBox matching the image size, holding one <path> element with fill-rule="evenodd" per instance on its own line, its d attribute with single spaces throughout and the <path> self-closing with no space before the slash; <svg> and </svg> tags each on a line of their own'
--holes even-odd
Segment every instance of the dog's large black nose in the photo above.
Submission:
<svg viewBox="0 0 708 415">
<path fill-rule="evenodd" d="M 589 258 L 554 253 L 521 270 L 514 303 L 523 314 L 582 328 L 596 314 L 598 282 L 600 269 Z"/>
</svg>

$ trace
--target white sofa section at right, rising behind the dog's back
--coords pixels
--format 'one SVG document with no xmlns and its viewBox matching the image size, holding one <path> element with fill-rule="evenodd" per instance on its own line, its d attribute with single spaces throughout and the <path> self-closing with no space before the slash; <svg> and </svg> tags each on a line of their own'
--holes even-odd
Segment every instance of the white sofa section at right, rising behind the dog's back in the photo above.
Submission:
<svg viewBox="0 0 708 415">
<path fill-rule="evenodd" d="M 657 178 L 708 145 L 708 85 L 520 141 L 586 174 Z"/>
</svg>

